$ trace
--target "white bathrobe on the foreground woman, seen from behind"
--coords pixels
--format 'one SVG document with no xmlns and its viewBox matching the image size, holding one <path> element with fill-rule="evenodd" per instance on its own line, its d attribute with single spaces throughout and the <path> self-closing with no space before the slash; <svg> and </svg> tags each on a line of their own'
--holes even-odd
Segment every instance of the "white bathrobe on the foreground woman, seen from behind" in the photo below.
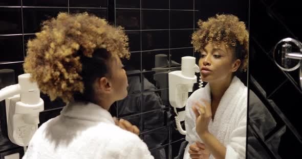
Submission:
<svg viewBox="0 0 302 159">
<path fill-rule="evenodd" d="M 23 159 L 154 158 L 135 134 L 116 126 L 109 112 L 93 103 L 70 103 L 42 124 Z"/>
</svg>

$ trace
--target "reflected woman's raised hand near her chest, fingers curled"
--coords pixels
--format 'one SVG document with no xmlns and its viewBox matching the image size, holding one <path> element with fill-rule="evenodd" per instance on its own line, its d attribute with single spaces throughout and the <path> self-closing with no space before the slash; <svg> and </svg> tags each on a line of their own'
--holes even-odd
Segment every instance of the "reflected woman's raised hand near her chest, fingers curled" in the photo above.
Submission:
<svg viewBox="0 0 302 159">
<path fill-rule="evenodd" d="M 192 110 L 196 116 L 196 133 L 202 139 L 202 137 L 205 134 L 209 133 L 208 125 L 212 118 L 212 111 L 211 111 L 211 104 L 207 102 L 205 99 L 201 99 L 201 100 L 205 103 L 205 106 L 199 102 L 196 102 L 196 104 L 193 105 Z"/>
</svg>

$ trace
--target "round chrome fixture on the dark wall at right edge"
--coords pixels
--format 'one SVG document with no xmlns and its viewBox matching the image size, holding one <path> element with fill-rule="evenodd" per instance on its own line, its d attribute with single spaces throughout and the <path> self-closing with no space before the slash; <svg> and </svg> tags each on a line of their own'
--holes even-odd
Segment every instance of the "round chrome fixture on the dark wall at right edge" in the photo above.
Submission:
<svg viewBox="0 0 302 159">
<path fill-rule="evenodd" d="M 292 38 L 282 39 L 275 45 L 273 57 L 276 65 L 284 71 L 300 67 L 299 81 L 302 89 L 302 43 Z"/>
</svg>

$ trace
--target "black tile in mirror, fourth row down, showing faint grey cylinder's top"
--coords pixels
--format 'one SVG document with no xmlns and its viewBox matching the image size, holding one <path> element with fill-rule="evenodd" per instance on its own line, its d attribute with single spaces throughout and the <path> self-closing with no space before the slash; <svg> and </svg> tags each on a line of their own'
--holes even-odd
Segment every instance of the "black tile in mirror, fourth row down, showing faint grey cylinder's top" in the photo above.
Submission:
<svg viewBox="0 0 302 159">
<path fill-rule="evenodd" d="M 142 52 L 142 70 L 160 70 L 169 67 L 169 50 Z"/>
</svg>

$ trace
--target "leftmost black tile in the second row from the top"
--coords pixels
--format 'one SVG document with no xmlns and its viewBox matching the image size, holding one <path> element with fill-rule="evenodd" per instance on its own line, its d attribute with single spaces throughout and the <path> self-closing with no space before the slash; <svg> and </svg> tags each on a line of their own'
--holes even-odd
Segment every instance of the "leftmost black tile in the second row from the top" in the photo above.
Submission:
<svg viewBox="0 0 302 159">
<path fill-rule="evenodd" d="M 0 9 L 0 34 L 21 34 L 21 8 Z"/>
</svg>

